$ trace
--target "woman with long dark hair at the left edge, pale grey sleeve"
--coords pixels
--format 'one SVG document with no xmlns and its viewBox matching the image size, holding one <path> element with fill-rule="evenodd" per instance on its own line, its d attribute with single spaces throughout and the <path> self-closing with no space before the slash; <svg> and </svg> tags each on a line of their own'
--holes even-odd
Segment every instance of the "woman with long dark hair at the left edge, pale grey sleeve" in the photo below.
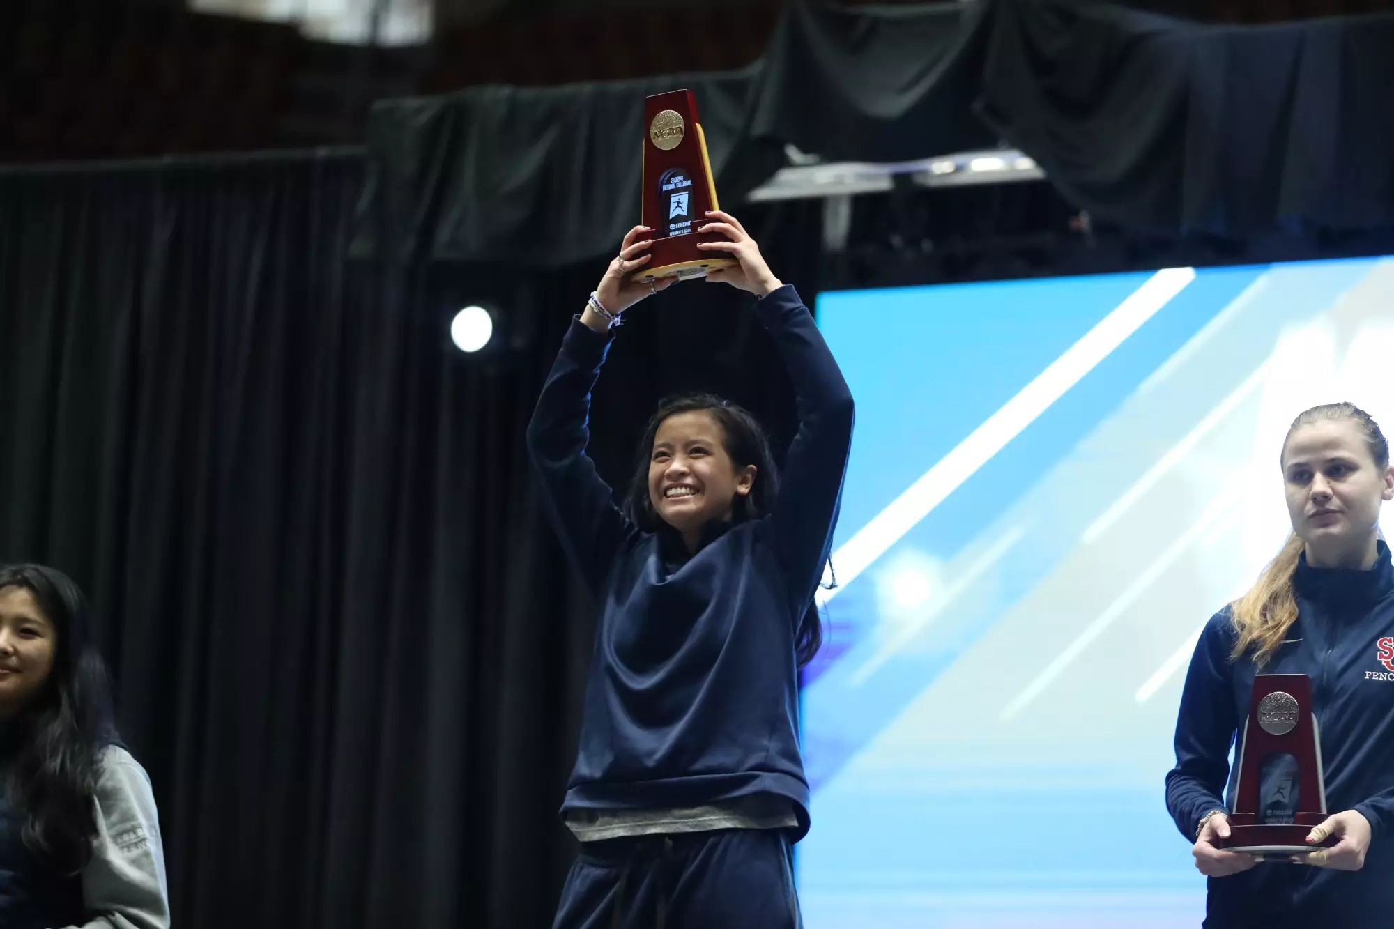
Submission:
<svg viewBox="0 0 1394 929">
<path fill-rule="evenodd" d="M 0 926 L 170 925 L 155 798 L 121 748 L 86 603 L 0 568 Z"/>
</svg>

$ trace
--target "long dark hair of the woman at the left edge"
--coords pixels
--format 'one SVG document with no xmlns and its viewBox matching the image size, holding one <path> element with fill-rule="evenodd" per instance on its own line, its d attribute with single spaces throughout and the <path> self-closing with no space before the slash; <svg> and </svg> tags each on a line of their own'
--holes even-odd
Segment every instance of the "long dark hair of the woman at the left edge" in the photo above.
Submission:
<svg viewBox="0 0 1394 929">
<path fill-rule="evenodd" d="M 24 587 L 53 624 L 53 670 L 35 703 L 11 721 L 6 783 L 25 847 L 60 873 L 92 858 L 93 798 L 102 750 L 117 741 L 106 664 L 92 642 L 86 598 L 43 565 L 0 568 L 0 589 Z"/>
</svg>

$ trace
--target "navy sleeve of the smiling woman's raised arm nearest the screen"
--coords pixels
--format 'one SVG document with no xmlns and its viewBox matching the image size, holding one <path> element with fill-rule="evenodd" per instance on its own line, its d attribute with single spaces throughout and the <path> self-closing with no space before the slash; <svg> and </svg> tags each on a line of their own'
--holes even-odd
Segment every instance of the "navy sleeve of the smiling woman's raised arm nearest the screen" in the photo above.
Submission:
<svg viewBox="0 0 1394 929">
<path fill-rule="evenodd" d="M 799 431 L 769 526 L 792 582 L 792 608 L 802 614 L 822 577 L 838 522 L 852 445 L 852 391 L 792 285 L 761 297 L 756 312 L 783 358 L 799 407 Z"/>
</svg>

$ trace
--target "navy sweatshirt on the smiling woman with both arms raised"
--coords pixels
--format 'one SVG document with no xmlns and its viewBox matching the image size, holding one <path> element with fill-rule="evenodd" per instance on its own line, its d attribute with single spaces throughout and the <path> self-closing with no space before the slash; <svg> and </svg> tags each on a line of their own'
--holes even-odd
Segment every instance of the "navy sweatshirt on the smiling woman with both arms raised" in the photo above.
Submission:
<svg viewBox="0 0 1394 929">
<path fill-rule="evenodd" d="M 799 431 L 771 512 L 708 524 L 691 557 L 630 522 L 585 456 L 609 333 L 572 322 L 528 424 L 552 519 L 601 607 L 563 815 L 774 795 L 793 803 L 795 838 L 809 829 L 795 639 L 831 547 L 852 395 L 792 286 L 756 312 L 793 381 Z"/>
</svg>

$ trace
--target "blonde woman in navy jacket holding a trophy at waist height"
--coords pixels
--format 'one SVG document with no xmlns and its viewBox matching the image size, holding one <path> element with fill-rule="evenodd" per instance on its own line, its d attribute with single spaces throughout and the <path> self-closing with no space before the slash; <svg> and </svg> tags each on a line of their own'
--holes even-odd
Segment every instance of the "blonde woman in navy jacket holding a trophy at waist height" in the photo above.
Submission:
<svg viewBox="0 0 1394 929">
<path fill-rule="evenodd" d="M 1181 696 L 1167 806 L 1206 875 L 1207 929 L 1394 925 L 1394 566 L 1379 537 L 1394 499 L 1388 442 L 1333 403 L 1292 423 L 1281 451 L 1292 536 L 1253 589 L 1200 635 Z M 1223 851 L 1230 750 L 1256 674 L 1306 674 L 1327 809 L 1291 859 Z M 1228 780 L 1228 791 L 1225 783 Z M 1306 865 L 1306 866 L 1299 866 Z"/>
</svg>

